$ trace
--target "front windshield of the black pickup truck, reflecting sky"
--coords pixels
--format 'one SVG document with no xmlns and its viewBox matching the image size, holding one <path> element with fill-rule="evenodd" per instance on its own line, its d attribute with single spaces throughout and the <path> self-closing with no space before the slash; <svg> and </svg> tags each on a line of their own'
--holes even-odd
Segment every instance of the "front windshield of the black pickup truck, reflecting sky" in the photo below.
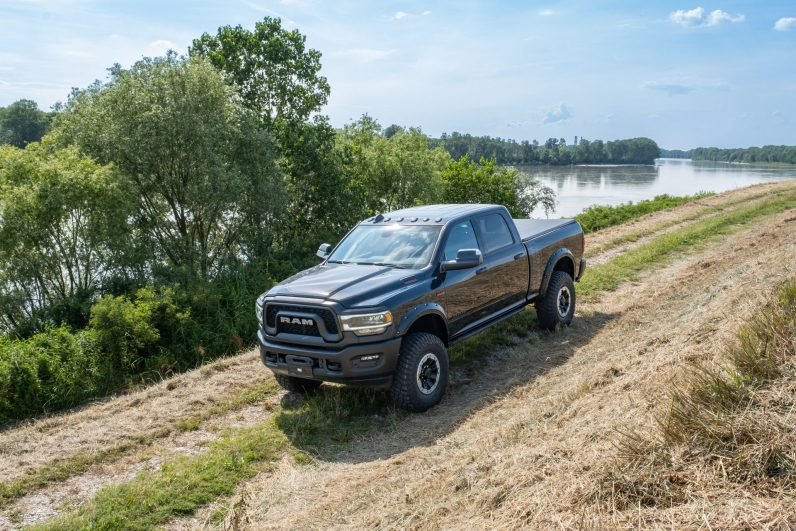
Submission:
<svg viewBox="0 0 796 531">
<path fill-rule="evenodd" d="M 438 226 L 427 225 L 360 225 L 328 261 L 420 269 L 431 260 L 439 230 Z"/>
</svg>

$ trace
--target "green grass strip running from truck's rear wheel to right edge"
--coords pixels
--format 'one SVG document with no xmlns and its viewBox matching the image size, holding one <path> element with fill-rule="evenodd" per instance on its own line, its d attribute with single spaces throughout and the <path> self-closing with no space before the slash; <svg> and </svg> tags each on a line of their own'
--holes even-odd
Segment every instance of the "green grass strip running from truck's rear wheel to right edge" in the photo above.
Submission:
<svg viewBox="0 0 796 531">
<path fill-rule="evenodd" d="M 706 243 L 737 232 L 751 222 L 796 207 L 796 192 L 782 193 L 770 200 L 738 208 L 697 222 L 688 227 L 659 236 L 648 244 L 617 256 L 610 262 L 586 270 L 578 285 L 578 294 L 587 299 L 603 291 L 616 289 L 623 282 L 660 265 L 676 253 L 698 248 Z"/>
</svg>

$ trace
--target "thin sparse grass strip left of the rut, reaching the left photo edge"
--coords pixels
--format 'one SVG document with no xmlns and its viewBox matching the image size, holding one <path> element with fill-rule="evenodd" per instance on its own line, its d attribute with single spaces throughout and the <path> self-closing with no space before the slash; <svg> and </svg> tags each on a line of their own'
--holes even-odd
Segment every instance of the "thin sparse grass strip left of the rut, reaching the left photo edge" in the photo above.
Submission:
<svg viewBox="0 0 796 531">
<path fill-rule="evenodd" d="M 198 415 L 175 420 L 171 426 L 132 437 L 123 443 L 102 448 L 94 452 L 81 451 L 74 456 L 61 459 L 34 470 L 31 474 L 14 481 L 0 483 L 0 507 L 21 498 L 46 485 L 64 481 L 70 477 L 86 472 L 92 466 L 108 463 L 120 456 L 145 448 L 155 440 L 172 433 L 180 433 L 197 429 L 205 420 L 235 411 L 249 404 L 262 402 L 277 392 L 278 386 L 273 380 L 245 389 L 232 397 L 211 406 Z"/>
</svg>

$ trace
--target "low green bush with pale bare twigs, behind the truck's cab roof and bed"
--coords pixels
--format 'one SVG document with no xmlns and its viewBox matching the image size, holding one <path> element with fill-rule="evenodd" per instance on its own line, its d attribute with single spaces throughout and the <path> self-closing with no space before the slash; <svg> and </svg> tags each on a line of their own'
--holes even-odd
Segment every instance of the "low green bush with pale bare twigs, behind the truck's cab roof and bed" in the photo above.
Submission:
<svg viewBox="0 0 796 531">
<path fill-rule="evenodd" d="M 541 205 L 555 208 L 553 190 L 540 182 L 522 178 L 513 168 L 497 165 L 495 159 L 476 164 L 468 156 L 449 164 L 442 172 L 442 201 L 445 203 L 493 203 L 505 205 L 515 218 L 527 217 Z"/>
</svg>

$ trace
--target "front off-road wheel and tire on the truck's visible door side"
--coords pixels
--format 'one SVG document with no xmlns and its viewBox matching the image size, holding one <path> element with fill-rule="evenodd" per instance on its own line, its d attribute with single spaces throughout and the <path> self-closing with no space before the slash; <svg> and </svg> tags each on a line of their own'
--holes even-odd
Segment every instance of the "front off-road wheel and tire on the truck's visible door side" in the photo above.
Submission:
<svg viewBox="0 0 796 531">
<path fill-rule="evenodd" d="M 404 337 L 392 381 L 395 407 L 426 411 L 439 404 L 447 387 L 448 351 L 442 340 L 425 332 Z"/>
</svg>

